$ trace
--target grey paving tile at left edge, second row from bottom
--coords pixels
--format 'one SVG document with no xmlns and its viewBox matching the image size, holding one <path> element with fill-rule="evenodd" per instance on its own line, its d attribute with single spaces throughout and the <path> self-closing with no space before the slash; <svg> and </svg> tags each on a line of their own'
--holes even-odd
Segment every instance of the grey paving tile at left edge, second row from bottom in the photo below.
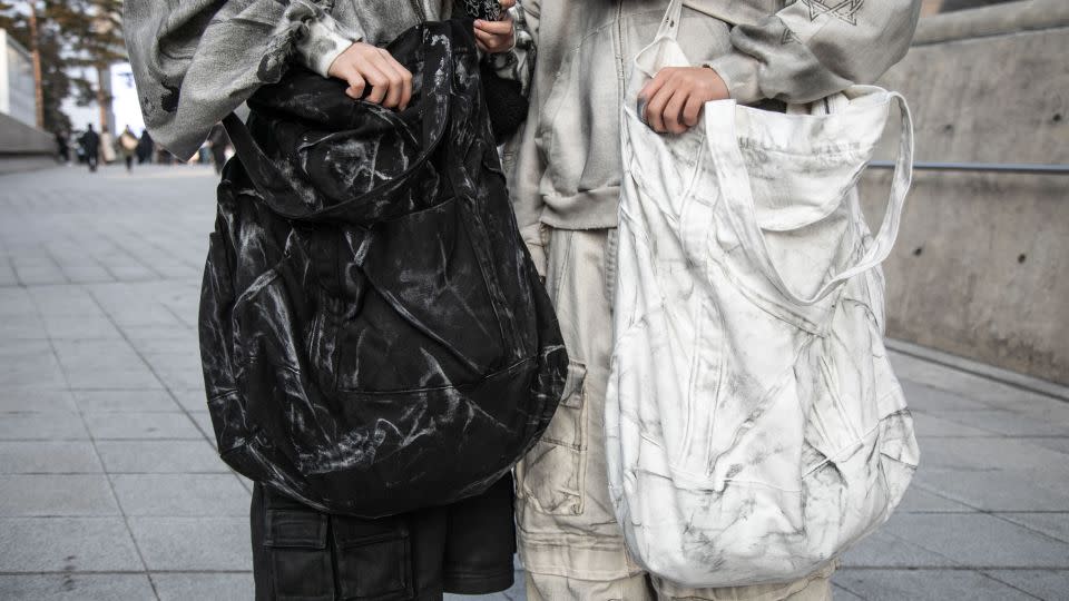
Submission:
<svg viewBox="0 0 1069 601">
<path fill-rule="evenodd" d="M 145 569 L 121 518 L 3 518 L 0 549 L 0 572 Z"/>
</svg>

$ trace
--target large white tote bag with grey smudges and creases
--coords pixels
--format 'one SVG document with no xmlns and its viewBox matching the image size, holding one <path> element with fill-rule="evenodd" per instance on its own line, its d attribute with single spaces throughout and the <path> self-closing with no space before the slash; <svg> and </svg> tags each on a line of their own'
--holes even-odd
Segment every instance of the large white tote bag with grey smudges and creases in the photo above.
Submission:
<svg viewBox="0 0 1069 601">
<path fill-rule="evenodd" d="M 688 65 L 674 0 L 622 110 L 611 499 L 627 545 L 687 587 L 804 578 L 882 524 L 919 452 L 883 344 L 880 263 L 911 181 L 903 99 L 853 87 L 788 114 L 705 106 L 660 136 L 636 97 Z M 902 116 L 883 225 L 856 181 Z"/>
</svg>

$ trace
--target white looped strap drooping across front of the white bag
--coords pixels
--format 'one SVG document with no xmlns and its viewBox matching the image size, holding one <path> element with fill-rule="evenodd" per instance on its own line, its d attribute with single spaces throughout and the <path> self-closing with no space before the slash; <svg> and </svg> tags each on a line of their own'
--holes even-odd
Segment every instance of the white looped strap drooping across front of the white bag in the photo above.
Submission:
<svg viewBox="0 0 1069 601">
<path fill-rule="evenodd" d="M 734 187 L 734 189 L 725 189 L 726 199 L 730 205 L 734 205 L 728 213 L 733 216 L 735 226 L 739 229 L 741 235 L 747 238 L 744 242 L 744 247 L 746 247 L 747 254 L 757 264 L 757 267 L 764 273 L 765 277 L 790 300 L 798 305 L 814 305 L 835 290 L 838 286 L 844 284 L 850 278 L 867 272 L 873 267 L 876 267 L 887 256 L 891 254 L 891 249 L 894 246 L 894 242 L 899 236 L 899 224 L 902 219 L 902 208 L 905 206 L 905 197 L 910 191 L 910 186 L 913 181 L 913 118 L 910 114 L 910 107 L 906 105 L 905 99 L 898 92 L 887 92 L 889 102 L 896 101 L 901 112 L 902 129 L 901 138 L 899 141 L 899 157 L 894 166 L 894 178 L 891 184 L 891 196 L 887 201 L 887 208 L 883 216 L 883 223 L 880 226 L 880 231 L 876 233 L 875 237 L 872 240 L 872 245 L 867 248 L 865 254 L 861 256 L 857 262 L 843 269 L 826 283 L 824 283 L 821 288 L 813 294 L 812 296 L 805 296 L 794 292 L 790 285 L 783 279 L 783 276 L 779 274 L 779 269 L 776 268 L 775 263 L 772 260 L 772 257 L 768 254 L 768 248 L 765 244 L 765 235 L 761 230 L 761 227 L 757 225 L 757 217 L 754 211 L 753 205 L 753 191 L 749 189 L 747 184 L 739 184 Z M 718 106 L 719 105 L 719 106 Z M 715 116 L 709 115 L 710 108 L 716 111 Z M 712 128 L 716 128 L 716 131 L 709 131 L 710 139 L 716 140 L 713 136 L 723 137 L 729 132 L 730 140 L 722 139 L 719 142 L 714 141 L 713 144 L 718 146 L 720 151 L 728 150 L 727 146 L 730 146 L 730 157 L 728 162 L 730 165 L 724 166 L 720 165 L 718 170 L 720 170 L 720 181 L 732 181 L 724 177 L 725 175 L 736 175 L 741 176 L 735 178 L 735 181 L 743 180 L 747 181 L 748 178 L 743 176 L 745 174 L 745 162 L 743 161 L 742 154 L 738 150 L 737 136 L 734 129 L 735 122 L 735 104 L 734 102 L 709 102 L 706 105 L 706 117 L 708 118 L 708 125 Z M 712 117 L 712 118 L 710 118 Z M 722 158 L 725 158 L 722 156 Z M 719 161 L 718 161 L 719 162 Z M 736 170 L 736 174 L 725 174 L 725 171 Z"/>
</svg>

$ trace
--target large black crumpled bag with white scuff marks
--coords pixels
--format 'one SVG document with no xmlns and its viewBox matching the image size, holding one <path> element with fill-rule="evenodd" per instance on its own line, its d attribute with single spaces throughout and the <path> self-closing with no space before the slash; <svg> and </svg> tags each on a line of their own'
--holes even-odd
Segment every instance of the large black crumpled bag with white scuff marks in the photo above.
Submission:
<svg viewBox="0 0 1069 601">
<path fill-rule="evenodd" d="M 262 88 L 218 188 L 200 349 L 219 454 L 321 511 L 379 518 L 482 493 L 565 385 L 521 242 L 470 21 L 390 51 L 403 112 L 294 70 Z"/>
</svg>

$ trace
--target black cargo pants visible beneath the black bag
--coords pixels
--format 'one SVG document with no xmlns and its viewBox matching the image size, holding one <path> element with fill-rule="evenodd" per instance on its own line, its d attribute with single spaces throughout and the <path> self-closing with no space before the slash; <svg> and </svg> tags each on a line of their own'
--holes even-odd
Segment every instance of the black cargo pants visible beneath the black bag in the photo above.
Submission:
<svg viewBox="0 0 1069 601">
<path fill-rule="evenodd" d="M 512 585 L 512 477 L 481 496 L 393 518 L 308 509 L 256 484 L 256 601 L 441 600 Z"/>
</svg>

